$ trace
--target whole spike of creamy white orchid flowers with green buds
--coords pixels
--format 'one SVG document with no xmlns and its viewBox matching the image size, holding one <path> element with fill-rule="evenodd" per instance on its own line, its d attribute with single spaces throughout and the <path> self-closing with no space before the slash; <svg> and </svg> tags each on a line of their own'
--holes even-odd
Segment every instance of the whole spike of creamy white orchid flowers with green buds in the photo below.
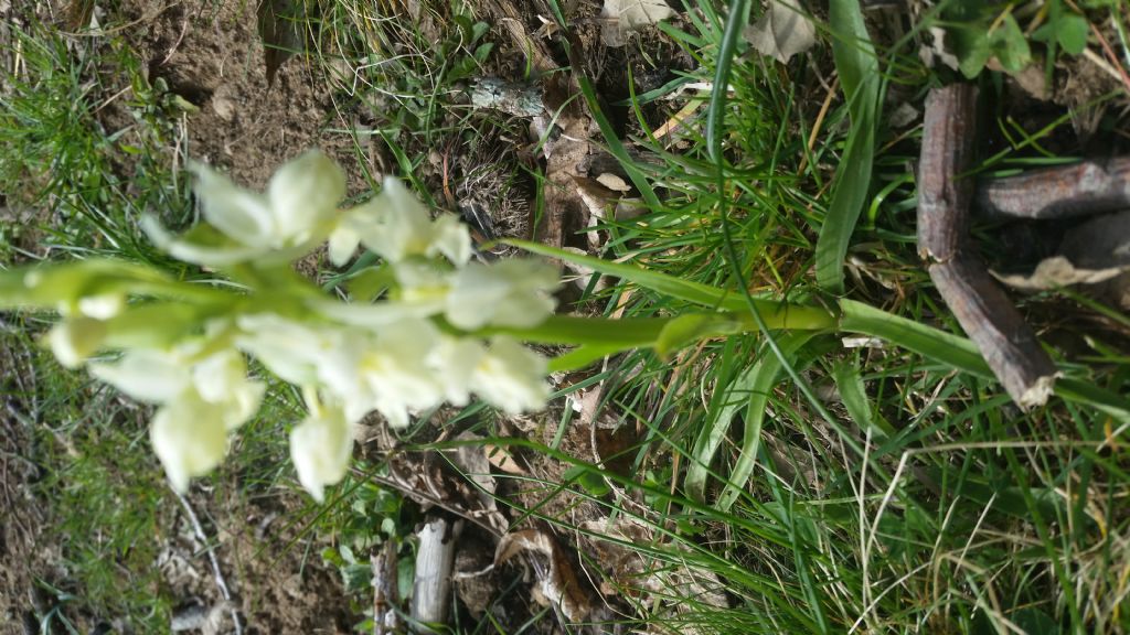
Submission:
<svg viewBox="0 0 1130 635">
<path fill-rule="evenodd" d="M 371 411 L 402 427 L 411 412 L 463 406 L 472 393 L 508 414 L 545 406 L 546 360 L 498 333 L 553 313 L 553 266 L 475 260 L 467 227 L 451 215 L 433 220 L 395 179 L 339 209 L 345 175 L 318 150 L 280 167 L 262 194 L 205 165 L 192 171 L 207 224 L 174 236 L 147 216 L 142 227 L 172 256 L 231 284 L 106 260 L 0 279 L 0 305 L 62 314 L 46 337 L 62 364 L 158 406 L 150 438 L 175 489 L 219 464 L 228 434 L 259 410 L 266 384 L 245 356 L 301 388 L 307 415 L 290 432 L 290 456 L 318 499 L 345 477 L 354 427 Z M 327 242 L 339 267 L 359 246 L 381 258 L 350 270 L 353 302 L 294 273 L 295 260 Z"/>
</svg>

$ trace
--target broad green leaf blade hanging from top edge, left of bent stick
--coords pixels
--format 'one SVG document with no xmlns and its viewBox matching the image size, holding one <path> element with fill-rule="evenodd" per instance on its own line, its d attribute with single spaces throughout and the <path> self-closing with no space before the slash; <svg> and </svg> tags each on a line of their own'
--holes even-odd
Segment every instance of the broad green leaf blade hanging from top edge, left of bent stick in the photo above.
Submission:
<svg viewBox="0 0 1130 635">
<path fill-rule="evenodd" d="M 826 290 L 842 293 L 844 256 L 871 184 L 880 78 L 859 0 L 832 0 L 829 23 L 832 53 L 851 113 L 851 131 L 816 241 L 816 281 Z"/>
</svg>

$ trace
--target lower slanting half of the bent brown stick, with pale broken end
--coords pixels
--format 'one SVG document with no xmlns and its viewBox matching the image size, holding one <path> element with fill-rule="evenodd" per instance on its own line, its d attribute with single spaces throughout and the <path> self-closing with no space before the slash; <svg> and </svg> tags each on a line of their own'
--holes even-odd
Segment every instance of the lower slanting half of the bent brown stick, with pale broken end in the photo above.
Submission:
<svg viewBox="0 0 1130 635">
<path fill-rule="evenodd" d="M 930 279 L 1012 401 L 1025 410 L 1046 403 L 1055 364 L 980 259 L 931 264 Z"/>
</svg>

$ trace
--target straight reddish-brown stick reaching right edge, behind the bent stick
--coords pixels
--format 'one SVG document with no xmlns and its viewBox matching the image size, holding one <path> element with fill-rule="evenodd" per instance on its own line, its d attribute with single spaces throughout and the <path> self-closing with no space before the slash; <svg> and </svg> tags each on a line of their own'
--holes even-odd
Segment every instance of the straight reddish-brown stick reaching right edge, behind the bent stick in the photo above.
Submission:
<svg viewBox="0 0 1130 635">
<path fill-rule="evenodd" d="M 977 183 L 977 211 L 1020 218 L 1068 218 L 1130 207 L 1130 157 L 1025 172 Z"/>
</svg>

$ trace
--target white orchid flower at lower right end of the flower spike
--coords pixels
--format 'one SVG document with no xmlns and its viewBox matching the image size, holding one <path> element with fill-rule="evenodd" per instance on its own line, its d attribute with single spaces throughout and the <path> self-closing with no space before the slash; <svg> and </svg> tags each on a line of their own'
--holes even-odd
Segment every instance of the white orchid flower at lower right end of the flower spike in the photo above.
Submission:
<svg viewBox="0 0 1130 635">
<path fill-rule="evenodd" d="M 492 406 L 510 415 L 545 408 L 549 385 L 546 359 L 514 339 L 496 337 L 475 365 L 470 386 Z"/>
</svg>

